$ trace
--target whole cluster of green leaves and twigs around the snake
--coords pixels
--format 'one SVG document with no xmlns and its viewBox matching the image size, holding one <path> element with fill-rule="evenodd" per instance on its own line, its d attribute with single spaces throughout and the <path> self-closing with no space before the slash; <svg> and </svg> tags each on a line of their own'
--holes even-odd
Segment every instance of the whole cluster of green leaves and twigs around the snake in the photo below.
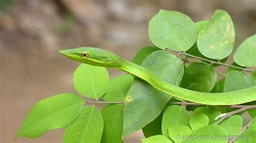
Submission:
<svg viewBox="0 0 256 143">
<path fill-rule="evenodd" d="M 197 23 L 183 13 L 160 10 L 150 20 L 149 37 L 153 46 L 138 51 L 132 62 L 166 82 L 213 93 L 255 86 L 256 71 L 248 67 L 256 66 L 256 35 L 240 44 L 234 62 L 227 65 L 235 31 L 224 10 Z M 192 58 L 199 60 L 192 62 Z M 219 73 L 218 66 L 227 66 L 226 73 Z M 217 81 L 217 75 L 224 78 Z M 65 128 L 63 142 L 123 142 L 142 128 L 146 137 L 142 142 L 256 142 L 255 102 L 233 106 L 188 103 L 130 74 L 110 79 L 106 68 L 86 64 L 75 70 L 73 85 L 93 101 L 72 93 L 43 99 L 31 108 L 15 139 L 37 138 L 49 130 Z M 88 103 L 105 106 L 99 111 Z M 252 120 L 242 128 L 245 111 Z"/>
</svg>

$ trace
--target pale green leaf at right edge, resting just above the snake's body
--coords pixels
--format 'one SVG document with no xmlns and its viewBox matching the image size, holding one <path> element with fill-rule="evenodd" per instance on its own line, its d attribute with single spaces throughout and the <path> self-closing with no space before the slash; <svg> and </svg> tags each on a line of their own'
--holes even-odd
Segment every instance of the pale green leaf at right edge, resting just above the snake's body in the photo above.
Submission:
<svg viewBox="0 0 256 143">
<path fill-rule="evenodd" d="M 255 82 L 251 75 L 240 71 L 231 71 L 226 76 L 224 92 L 246 89 L 253 86 L 255 86 Z"/>
</svg>

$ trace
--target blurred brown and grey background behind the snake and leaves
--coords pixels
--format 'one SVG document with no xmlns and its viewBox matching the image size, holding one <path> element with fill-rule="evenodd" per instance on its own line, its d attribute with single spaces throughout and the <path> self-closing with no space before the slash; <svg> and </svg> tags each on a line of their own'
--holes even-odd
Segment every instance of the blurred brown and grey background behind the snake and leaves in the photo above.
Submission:
<svg viewBox="0 0 256 143">
<path fill-rule="evenodd" d="M 0 2 L 1 142 L 14 142 L 12 138 L 36 102 L 76 92 L 72 74 L 79 63 L 66 59 L 59 49 L 100 47 L 131 60 L 140 48 L 152 45 L 147 27 L 159 9 L 183 12 L 194 22 L 210 19 L 216 9 L 226 10 L 235 25 L 235 48 L 256 33 L 255 0 Z M 122 74 L 109 71 L 111 77 Z M 63 129 L 58 129 L 37 139 L 19 137 L 15 142 L 61 142 L 62 134 Z M 141 131 L 126 142 L 140 142 L 139 138 L 144 138 Z"/>
</svg>

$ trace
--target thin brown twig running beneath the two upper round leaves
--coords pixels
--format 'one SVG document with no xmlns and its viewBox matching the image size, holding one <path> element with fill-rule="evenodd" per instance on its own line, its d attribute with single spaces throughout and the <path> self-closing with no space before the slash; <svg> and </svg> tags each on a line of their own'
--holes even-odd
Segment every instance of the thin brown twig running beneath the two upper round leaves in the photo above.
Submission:
<svg viewBox="0 0 256 143">
<path fill-rule="evenodd" d="M 176 53 L 181 54 L 181 55 L 191 56 L 192 58 L 196 58 L 196 59 L 199 59 L 199 60 L 204 60 L 204 61 L 208 61 L 208 62 L 211 62 L 211 63 L 216 63 L 216 64 L 218 64 L 218 65 L 223 65 L 223 66 L 226 66 L 226 67 L 232 67 L 232 68 L 242 69 L 242 70 L 244 70 L 244 71 L 253 72 L 252 69 L 246 69 L 246 68 L 240 68 L 240 67 L 233 66 L 233 65 L 228 65 L 228 64 L 226 64 L 226 63 L 220 62 L 219 60 L 218 60 L 218 62 L 216 62 L 216 61 L 212 61 L 212 60 L 200 58 L 200 57 L 198 57 L 198 56 L 194 56 L 194 55 L 191 55 L 191 54 L 187 54 L 187 53 L 185 53 L 185 52 L 174 51 L 174 50 L 172 50 L 172 49 L 170 49 L 170 48 L 167 48 L 167 47 L 166 47 L 165 49 L 168 49 L 168 50 L 170 50 L 170 51 L 176 52 Z"/>
</svg>

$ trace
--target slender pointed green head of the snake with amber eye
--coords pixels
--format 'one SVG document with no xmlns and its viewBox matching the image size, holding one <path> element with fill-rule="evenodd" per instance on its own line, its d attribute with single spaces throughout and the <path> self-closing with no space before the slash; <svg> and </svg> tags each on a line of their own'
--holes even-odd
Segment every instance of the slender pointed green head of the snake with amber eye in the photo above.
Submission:
<svg viewBox="0 0 256 143">
<path fill-rule="evenodd" d="M 87 63 L 93 66 L 114 68 L 120 64 L 121 58 L 111 52 L 94 47 L 79 47 L 74 49 L 60 50 L 69 59 Z"/>
</svg>

